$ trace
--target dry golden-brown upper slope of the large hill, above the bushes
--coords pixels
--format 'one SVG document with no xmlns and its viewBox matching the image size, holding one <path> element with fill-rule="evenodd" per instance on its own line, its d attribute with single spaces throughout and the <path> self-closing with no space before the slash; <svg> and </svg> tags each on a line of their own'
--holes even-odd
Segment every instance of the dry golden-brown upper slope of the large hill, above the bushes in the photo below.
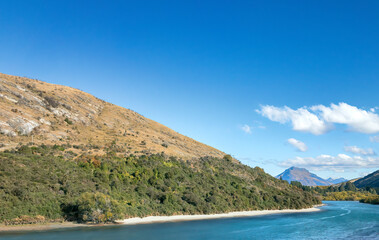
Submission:
<svg viewBox="0 0 379 240">
<path fill-rule="evenodd" d="M 125 154 L 224 156 L 132 110 L 71 87 L 0 73 L 0 106 L 0 151 L 33 141 L 77 145 L 72 149 L 77 153 L 91 145 L 99 147 L 100 154 L 113 144 Z"/>
</svg>

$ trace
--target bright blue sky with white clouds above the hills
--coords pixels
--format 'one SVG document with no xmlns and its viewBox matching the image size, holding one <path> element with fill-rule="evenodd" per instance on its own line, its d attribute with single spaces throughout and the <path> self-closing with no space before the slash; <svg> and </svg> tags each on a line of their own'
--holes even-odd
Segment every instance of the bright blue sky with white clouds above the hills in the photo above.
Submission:
<svg viewBox="0 0 379 240">
<path fill-rule="evenodd" d="M 272 175 L 293 164 L 354 178 L 379 166 L 378 12 L 378 1 L 0 1 L 0 72 L 79 88 Z"/>
</svg>

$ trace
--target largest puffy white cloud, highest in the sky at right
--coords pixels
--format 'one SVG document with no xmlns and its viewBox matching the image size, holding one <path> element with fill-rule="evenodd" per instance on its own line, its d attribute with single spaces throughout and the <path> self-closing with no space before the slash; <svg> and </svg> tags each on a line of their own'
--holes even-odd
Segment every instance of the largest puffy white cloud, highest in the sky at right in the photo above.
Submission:
<svg viewBox="0 0 379 240">
<path fill-rule="evenodd" d="M 324 134 L 333 129 L 333 124 L 345 124 L 349 130 L 372 134 L 379 132 L 379 115 L 372 111 L 359 109 L 347 103 L 331 104 L 329 107 L 316 105 L 296 110 L 270 105 L 261 106 L 259 114 L 271 121 L 290 122 L 295 131 Z"/>
</svg>

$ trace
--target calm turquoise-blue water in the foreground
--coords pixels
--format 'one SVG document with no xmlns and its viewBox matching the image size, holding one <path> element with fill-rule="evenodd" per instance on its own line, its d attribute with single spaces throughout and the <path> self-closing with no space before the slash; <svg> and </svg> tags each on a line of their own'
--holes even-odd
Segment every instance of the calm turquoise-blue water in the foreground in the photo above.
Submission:
<svg viewBox="0 0 379 240">
<path fill-rule="evenodd" d="M 324 203 L 315 213 L 0 233 L 0 239 L 379 239 L 378 205 Z"/>
</svg>

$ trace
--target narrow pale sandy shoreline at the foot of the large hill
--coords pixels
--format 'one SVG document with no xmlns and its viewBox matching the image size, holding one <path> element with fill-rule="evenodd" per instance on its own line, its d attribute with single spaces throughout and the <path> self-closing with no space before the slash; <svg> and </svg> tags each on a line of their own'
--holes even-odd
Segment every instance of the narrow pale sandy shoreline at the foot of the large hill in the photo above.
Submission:
<svg viewBox="0 0 379 240">
<path fill-rule="evenodd" d="M 74 227 L 99 227 L 99 226 L 114 226 L 114 225 L 136 225 L 136 224 L 149 224 L 160 222 L 178 222 L 178 221 L 194 221 L 194 220 L 206 220 L 206 219 L 219 219 L 219 218 L 234 218 L 234 217 L 253 217 L 263 216 L 270 214 L 283 214 L 283 213 L 307 213 L 320 211 L 317 205 L 312 208 L 305 209 L 284 209 L 284 210 L 257 210 L 257 211 L 241 211 L 241 212 L 229 212 L 220 214 L 209 215 L 174 215 L 174 216 L 150 216 L 150 217 L 135 217 L 124 220 L 118 220 L 114 224 L 79 224 L 73 222 L 63 223 L 47 223 L 47 224 L 33 224 L 33 225 L 13 225 L 5 226 L 0 225 L 1 232 L 18 232 L 18 231 L 44 231 L 52 229 L 62 228 L 74 228 Z"/>
</svg>

